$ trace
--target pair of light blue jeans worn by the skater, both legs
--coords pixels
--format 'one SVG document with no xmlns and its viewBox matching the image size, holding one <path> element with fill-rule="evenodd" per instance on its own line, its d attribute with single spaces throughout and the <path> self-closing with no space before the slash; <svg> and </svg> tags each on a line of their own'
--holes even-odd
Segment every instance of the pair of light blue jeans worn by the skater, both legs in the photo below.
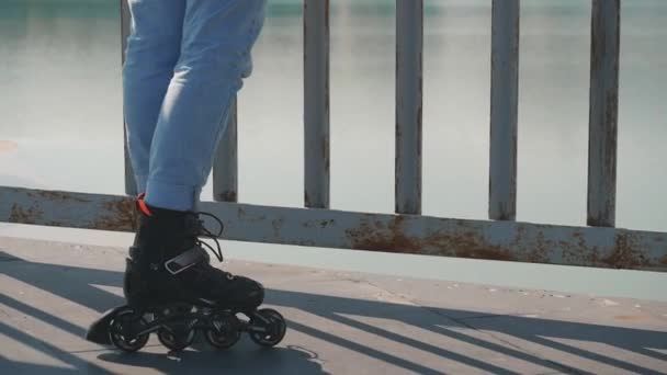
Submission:
<svg viewBox="0 0 667 375">
<path fill-rule="evenodd" d="M 195 209 L 229 107 L 252 70 L 265 0 L 128 0 L 127 147 L 149 205 Z"/>
</svg>

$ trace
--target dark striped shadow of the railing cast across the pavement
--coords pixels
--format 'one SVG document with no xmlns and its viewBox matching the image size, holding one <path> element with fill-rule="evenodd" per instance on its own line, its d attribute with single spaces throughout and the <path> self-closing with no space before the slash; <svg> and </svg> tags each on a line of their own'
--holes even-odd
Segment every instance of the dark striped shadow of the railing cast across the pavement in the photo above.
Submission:
<svg viewBox="0 0 667 375">
<path fill-rule="evenodd" d="M 47 291 L 61 298 L 87 306 L 93 310 L 102 312 L 111 307 L 123 304 L 123 299 L 117 295 L 93 286 L 93 284 L 95 284 L 120 287 L 122 282 L 121 272 L 47 263 L 32 263 L 20 259 L 13 259 L 11 255 L 1 252 L 0 260 L 3 262 L 16 261 L 13 264 L 5 263 L 5 266 L 2 268 L 4 270 L 3 273 L 8 276 Z M 460 320 L 452 317 L 460 317 L 465 312 L 472 314 L 472 311 L 400 305 L 292 291 L 270 289 L 267 294 L 268 303 L 271 305 L 303 310 L 318 318 L 328 319 L 338 325 L 343 325 L 352 329 L 381 337 L 383 340 L 389 340 L 402 345 L 420 350 L 430 353 L 431 355 L 446 359 L 450 362 L 459 362 L 486 373 L 513 374 L 516 372 L 485 361 L 483 357 L 475 357 L 467 353 L 448 350 L 446 348 L 430 343 L 419 337 L 406 337 L 393 332 L 385 327 L 362 322 L 360 319 L 357 319 L 357 317 L 399 321 L 439 336 L 444 336 L 451 340 L 461 341 L 511 359 L 535 364 L 553 372 L 587 373 L 581 368 L 576 368 L 575 364 L 545 359 L 516 345 L 502 344 L 494 340 L 485 340 L 485 337 L 473 337 L 456 330 L 456 328 L 472 328 L 474 330 L 506 334 L 532 344 L 546 346 L 588 361 L 606 364 L 615 367 L 619 371 L 640 374 L 657 374 L 658 372 L 644 367 L 638 363 L 631 363 L 619 357 L 611 357 L 601 353 L 584 350 L 554 341 L 553 339 L 579 340 L 607 344 L 658 361 L 665 361 L 665 354 L 647 350 L 647 348 L 667 349 L 667 333 L 643 329 L 504 315 L 487 315 L 484 318 Z M 84 336 L 83 328 L 68 321 L 67 318 L 58 317 L 55 314 L 31 306 L 29 300 L 20 300 L 16 296 L 2 294 L 0 295 L 0 305 L 5 305 L 11 309 L 19 310 L 74 336 Z M 425 312 L 425 309 L 428 312 Z M 425 318 L 425 315 L 427 318 Z M 408 356 L 394 355 L 384 351 L 382 348 L 375 348 L 362 341 L 350 340 L 341 334 L 337 334 L 335 331 L 323 329 L 316 325 L 309 325 L 307 321 L 290 319 L 289 315 L 286 317 L 291 330 L 298 331 L 335 345 L 348 348 L 369 357 L 393 364 L 394 366 L 406 371 L 420 374 L 440 374 L 443 371 L 442 368 L 432 368 L 429 365 Z M 106 372 L 106 370 L 99 365 L 86 362 L 72 352 L 56 348 L 34 334 L 22 332 L 2 321 L 0 321 L 0 333 L 25 345 L 33 346 L 38 351 L 47 352 L 60 361 L 75 366 L 77 371 L 86 371 L 89 373 Z M 255 346 L 249 343 L 246 345 L 241 342 L 239 345 L 240 348 L 235 348 L 223 353 L 210 350 L 205 344 L 196 345 L 195 349 L 199 349 L 199 351 L 182 353 L 180 362 L 168 361 L 165 360 L 165 355 L 146 352 L 143 352 L 139 355 L 126 355 L 113 351 L 102 351 L 98 355 L 98 359 L 138 367 L 155 368 L 163 372 L 183 371 L 186 368 L 189 371 L 195 371 L 197 374 L 207 372 L 217 373 L 225 370 L 250 374 L 256 372 L 261 373 L 268 368 L 274 374 L 319 374 L 324 372 L 321 363 L 317 359 L 317 354 L 312 353 L 306 349 L 287 346 L 265 351 L 253 349 Z M 33 367 L 32 364 L 7 360 L 9 361 L 8 363 L 10 363 L 9 368 L 12 370 L 34 370 L 35 372 L 44 370 L 41 365 L 34 365 Z M 2 371 L 2 367 L 3 365 L 0 365 L 0 371 Z M 69 370 L 61 368 L 54 368 L 54 372 L 70 373 Z"/>
</svg>

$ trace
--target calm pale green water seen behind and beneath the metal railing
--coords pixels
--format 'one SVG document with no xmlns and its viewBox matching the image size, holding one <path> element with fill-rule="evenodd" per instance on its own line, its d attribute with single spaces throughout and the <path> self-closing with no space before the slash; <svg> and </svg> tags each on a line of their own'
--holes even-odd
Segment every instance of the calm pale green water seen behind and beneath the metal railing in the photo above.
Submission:
<svg viewBox="0 0 667 375">
<path fill-rule="evenodd" d="M 270 3 L 255 49 L 255 75 L 240 93 L 240 200 L 299 206 L 302 2 Z M 336 208 L 393 209 L 393 4 L 332 2 Z M 518 219 L 584 225 L 590 1 L 524 0 L 521 16 Z M 490 1 L 427 1 L 425 22 L 423 212 L 485 218 Z M 667 230 L 666 38 L 667 1 L 623 2 L 621 227 Z M 116 1 L 0 2 L 0 184 L 123 192 L 120 55 Z M 0 227 L 0 234 L 22 230 Z M 56 236 L 55 229 L 44 230 Z M 657 287 L 667 279 L 651 273 L 419 257 L 409 258 L 406 269 L 406 257 L 242 243 L 228 252 L 245 259 L 667 299 Z"/>
</svg>

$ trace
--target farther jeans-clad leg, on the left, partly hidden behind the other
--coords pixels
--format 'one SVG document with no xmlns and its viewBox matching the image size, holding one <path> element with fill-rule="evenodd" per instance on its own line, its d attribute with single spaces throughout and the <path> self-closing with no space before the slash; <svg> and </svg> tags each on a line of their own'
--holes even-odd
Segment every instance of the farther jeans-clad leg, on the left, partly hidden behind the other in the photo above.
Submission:
<svg viewBox="0 0 667 375">
<path fill-rule="evenodd" d="M 123 66 L 127 147 L 139 192 L 146 190 L 150 144 L 181 53 L 185 0 L 128 0 L 132 33 Z"/>
</svg>

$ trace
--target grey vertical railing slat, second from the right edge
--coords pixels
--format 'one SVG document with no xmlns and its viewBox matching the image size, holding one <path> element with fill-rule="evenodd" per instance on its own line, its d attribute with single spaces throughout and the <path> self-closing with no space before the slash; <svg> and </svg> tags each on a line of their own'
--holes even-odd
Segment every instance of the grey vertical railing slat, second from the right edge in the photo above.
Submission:
<svg viewBox="0 0 667 375">
<path fill-rule="evenodd" d="M 494 0 L 488 205 L 493 220 L 517 217 L 519 20 L 519 0 Z"/>
</svg>

